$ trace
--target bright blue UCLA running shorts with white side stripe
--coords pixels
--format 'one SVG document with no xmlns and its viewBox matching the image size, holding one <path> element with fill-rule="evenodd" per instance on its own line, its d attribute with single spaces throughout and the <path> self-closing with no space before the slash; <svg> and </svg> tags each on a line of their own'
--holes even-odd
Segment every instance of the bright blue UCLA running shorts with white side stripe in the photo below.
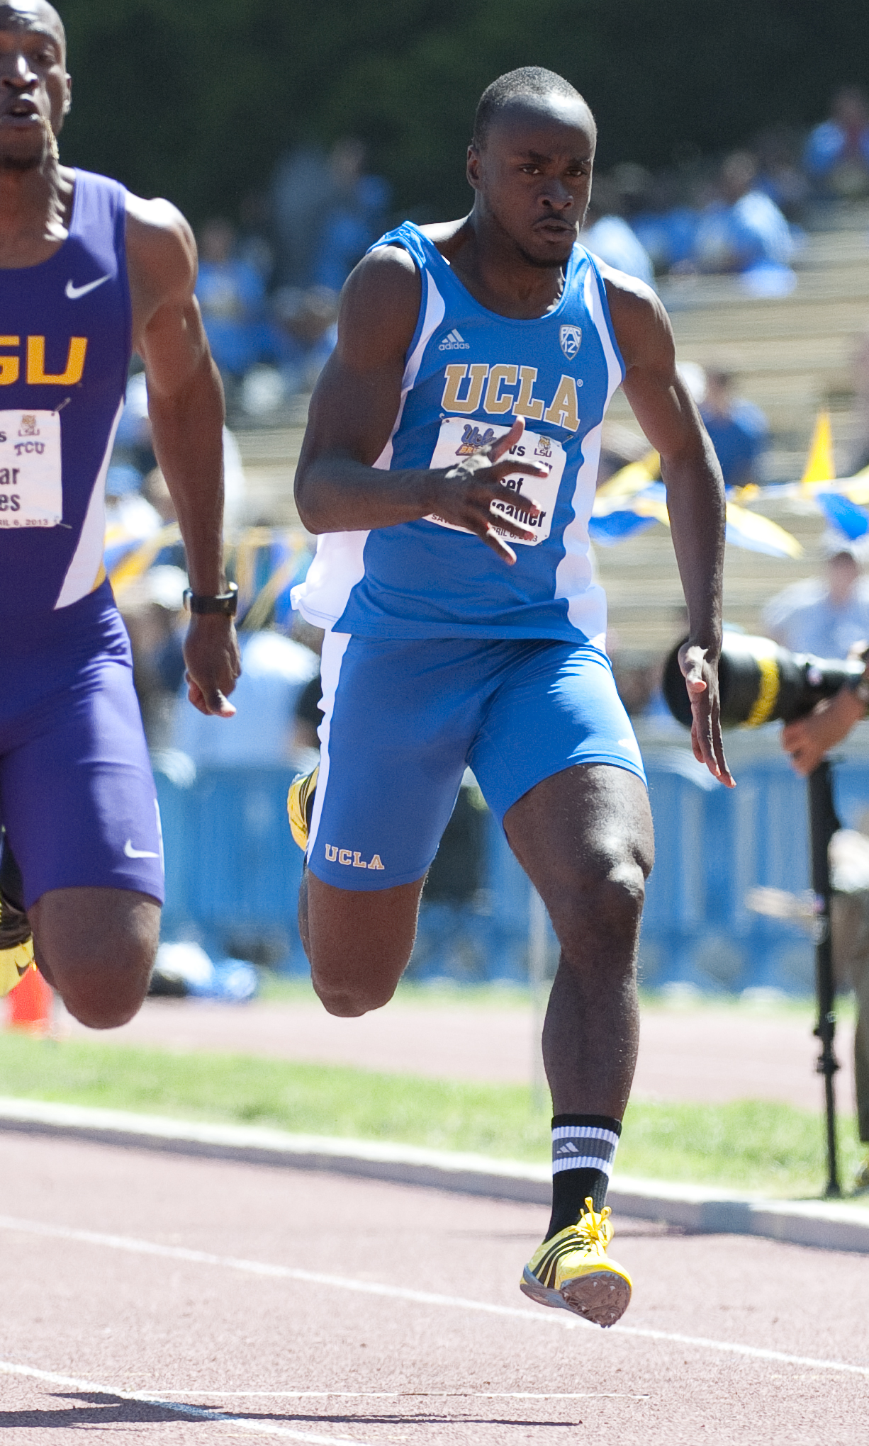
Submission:
<svg viewBox="0 0 869 1446">
<path fill-rule="evenodd" d="M 502 826 L 574 763 L 645 782 L 609 658 L 590 643 L 328 632 L 321 707 L 308 868 L 341 889 L 422 878 L 466 768 Z"/>
</svg>

